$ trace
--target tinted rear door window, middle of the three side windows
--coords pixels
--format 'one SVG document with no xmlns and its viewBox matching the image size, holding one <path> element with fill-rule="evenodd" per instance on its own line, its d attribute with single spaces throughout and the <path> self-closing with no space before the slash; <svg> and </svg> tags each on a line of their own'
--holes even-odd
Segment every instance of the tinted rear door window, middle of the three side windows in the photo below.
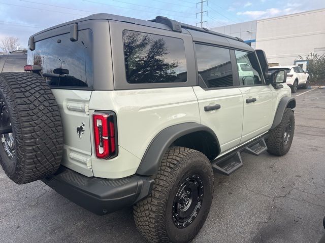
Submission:
<svg viewBox="0 0 325 243">
<path fill-rule="evenodd" d="M 207 88 L 233 86 L 229 49 L 196 44 L 199 78 Z"/>
</svg>

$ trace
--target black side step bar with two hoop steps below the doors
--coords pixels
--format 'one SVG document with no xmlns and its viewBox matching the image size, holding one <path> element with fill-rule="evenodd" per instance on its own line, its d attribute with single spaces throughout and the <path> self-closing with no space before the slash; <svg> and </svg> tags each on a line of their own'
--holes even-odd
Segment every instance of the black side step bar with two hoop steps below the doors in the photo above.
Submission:
<svg viewBox="0 0 325 243">
<path fill-rule="evenodd" d="M 249 142 L 248 144 L 245 144 L 244 146 L 235 149 L 229 154 L 225 154 L 222 157 L 212 161 L 213 170 L 217 173 L 220 173 L 222 175 L 227 175 L 227 176 L 234 173 L 243 165 L 240 152 L 259 155 L 268 149 L 264 138 L 265 136 L 259 137 Z"/>
</svg>

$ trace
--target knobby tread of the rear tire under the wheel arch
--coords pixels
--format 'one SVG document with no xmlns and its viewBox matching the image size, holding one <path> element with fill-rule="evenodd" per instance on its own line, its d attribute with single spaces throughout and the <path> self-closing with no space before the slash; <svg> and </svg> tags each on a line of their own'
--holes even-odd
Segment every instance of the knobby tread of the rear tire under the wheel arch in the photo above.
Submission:
<svg viewBox="0 0 325 243">
<path fill-rule="evenodd" d="M 186 167 L 186 157 L 205 161 L 213 175 L 212 166 L 208 158 L 201 152 L 185 147 L 170 147 L 161 161 L 158 173 L 153 176 L 154 185 L 151 194 L 134 206 L 134 219 L 138 230 L 149 242 L 171 242 L 165 227 L 165 210 L 171 188 L 175 184 L 175 177 Z M 177 182 L 176 182 L 177 183 Z M 198 226 L 202 227 L 204 221 Z M 193 233 L 193 237 L 196 233 Z"/>
</svg>

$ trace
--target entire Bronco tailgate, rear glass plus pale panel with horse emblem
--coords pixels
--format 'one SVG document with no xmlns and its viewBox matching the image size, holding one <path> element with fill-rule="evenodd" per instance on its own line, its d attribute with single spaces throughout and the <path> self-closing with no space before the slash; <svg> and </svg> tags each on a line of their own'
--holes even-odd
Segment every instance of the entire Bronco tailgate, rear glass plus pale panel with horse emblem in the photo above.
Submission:
<svg viewBox="0 0 325 243">
<path fill-rule="evenodd" d="M 70 33 L 63 31 L 42 38 L 35 42 L 35 50 L 28 50 L 27 63 L 42 67 L 59 106 L 64 136 L 61 164 L 89 177 L 93 176 L 88 111 L 93 88 L 93 33 L 82 29 L 77 36 L 71 41 Z"/>
</svg>

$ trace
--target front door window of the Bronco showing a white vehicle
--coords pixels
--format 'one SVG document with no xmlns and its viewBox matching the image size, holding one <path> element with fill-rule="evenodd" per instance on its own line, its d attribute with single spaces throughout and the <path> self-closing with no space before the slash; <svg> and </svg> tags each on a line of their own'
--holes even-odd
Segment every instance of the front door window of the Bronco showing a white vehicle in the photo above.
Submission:
<svg viewBox="0 0 325 243">
<path fill-rule="evenodd" d="M 261 85 L 262 84 L 262 72 L 259 68 L 257 58 L 254 53 L 235 51 L 239 85 Z M 244 69 L 242 67 L 245 67 Z"/>
</svg>

